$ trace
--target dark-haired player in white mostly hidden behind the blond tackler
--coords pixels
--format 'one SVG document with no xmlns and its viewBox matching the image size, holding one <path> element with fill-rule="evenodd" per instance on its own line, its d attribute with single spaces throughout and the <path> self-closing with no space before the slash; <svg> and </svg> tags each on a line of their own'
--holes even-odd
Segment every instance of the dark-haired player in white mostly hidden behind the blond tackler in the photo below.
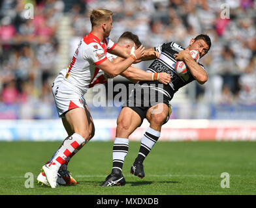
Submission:
<svg viewBox="0 0 256 208">
<path fill-rule="evenodd" d="M 138 36 L 136 34 L 133 34 L 132 32 L 126 31 L 121 34 L 119 40 L 118 40 L 118 45 L 121 47 L 131 49 L 133 45 L 136 45 L 136 47 L 140 47 L 141 43 L 140 40 L 138 39 Z M 152 49 L 150 49 L 150 53 L 146 57 L 143 57 L 143 59 L 150 59 L 150 56 L 152 56 L 155 53 L 152 53 Z M 116 55 L 111 55 L 110 53 L 107 53 L 107 57 L 110 61 L 112 62 L 120 62 L 123 60 L 120 57 L 117 57 Z M 63 79 L 65 79 L 65 76 L 67 75 L 67 72 L 69 71 L 69 68 L 63 69 L 59 72 L 59 76 L 57 79 L 54 81 L 54 85 L 58 85 L 57 83 L 61 82 Z M 129 69 L 125 70 L 123 73 L 121 73 L 122 76 L 126 77 L 127 79 L 130 79 L 134 83 L 137 83 L 138 80 L 140 81 L 150 81 L 152 79 L 158 80 L 160 83 L 163 84 L 168 84 L 170 82 L 170 75 L 165 72 L 161 73 L 155 73 L 153 74 L 152 72 L 145 72 L 143 70 L 140 70 L 138 68 L 134 67 L 129 67 Z M 154 75 L 154 76 L 152 76 Z M 153 78 L 152 78 L 153 77 Z M 89 83 L 89 88 L 98 85 L 98 84 L 103 84 L 107 82 L 108 75 L 106 73 L 99 69 L 95 68 L 95 72 L 93 75 L 93 78 L 91 79 L 91 82 Z M 67 129 L 69 130 L 69 129 Z M 72 130 L 67 132 L 68 135 L 72 135 L 73 132 Z M 80 149 L 82 148 L 83 144 L 80 145 L 78 148 L 74 150 L 74 152 L 65 159 L 65 163 L 61 165 L 61 168 L 59 168 L 58 171 L 58 177 L 57 177 L 57 183 L 59 185 L 75 185 L 77 182 L 76 180 L 72 177 L 70 172 L 67 170 L 67 165 L 69 164 L 69 161 L 71 160 L 72 156 Z M 50 163 L 52 159 L 47 162 Z M 46 176 L 43 172 L 39 174 L 37 177 L 39 183 L 42 183 L 44 185 L 48 185 L 48 181 L 46 179 Z"/>
</svg>

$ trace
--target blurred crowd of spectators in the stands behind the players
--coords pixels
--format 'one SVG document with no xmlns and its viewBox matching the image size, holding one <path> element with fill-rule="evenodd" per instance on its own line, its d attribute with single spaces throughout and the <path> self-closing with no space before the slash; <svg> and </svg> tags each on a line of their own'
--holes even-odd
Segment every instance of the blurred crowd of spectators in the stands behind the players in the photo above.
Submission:
<svg viewBox="0 0 256 208">
<path fill-rule="evenodd" d="M 28 10 L 31 7 L 33 10 Z M 67 51 L 71 59 L 74 43 L 91 30 L 88 17 L 93 8 L 114 12 L 110 38 L 115 42 L 122 32 L 131 31 L 146 48 L 170 41 L 187 47 L 197 34 L 208 34 L 212 48 L 200 62 L 209 77 L 204 85 L 196 86 L 196 100 L 217 105 L 256 105 L 253 0 L 3 0 L 0 104 L 22 105 L 20 118 L 36 117 L 35 112 L 29 114 L 31 105 L 44 109 L 36 110 L 42 112 L 39 118 L 46 116 L 47 107 L 54 103 L 52 80 L 60 70 L 59 21 L 63 16 L 72 19 Z"/>
</svg>

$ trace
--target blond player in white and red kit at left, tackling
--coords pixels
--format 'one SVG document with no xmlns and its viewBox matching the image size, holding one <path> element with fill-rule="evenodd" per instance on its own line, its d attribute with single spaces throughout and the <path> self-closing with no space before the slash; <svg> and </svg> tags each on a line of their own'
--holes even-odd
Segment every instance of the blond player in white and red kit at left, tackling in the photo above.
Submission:
<svg viewBox="0 0 256 208">
<path fill-rule="evenodd" d="M 46 176 L 47 183 L 52 188 L 57 187 L 57 172 L 66 159 L 72 157 L 80 149 L 78 147 L 86 144 L 94 135 L 93 120 L 84 94 L 95 74 L 95 68 L 101 68 L 108 75 L 115 77 L 144 55 L 142 45 L 138 49 L 124 49 L 108 38 L 113 27 L 110 10 L 93 10 L 90 20 L 91 32 L 78 45 L 65 79 L 57 77 L 52 86 L 57 112 L 69 135 L 50 162 L 42 166 L 43 173 L 37 178 L 40 181 L 40 176 Z M 114 64 L 106 58 L 106 52 L 118 55 L 124 60 Z M 157 55 L 149 52 L 148 54 Z"/>
</svg>

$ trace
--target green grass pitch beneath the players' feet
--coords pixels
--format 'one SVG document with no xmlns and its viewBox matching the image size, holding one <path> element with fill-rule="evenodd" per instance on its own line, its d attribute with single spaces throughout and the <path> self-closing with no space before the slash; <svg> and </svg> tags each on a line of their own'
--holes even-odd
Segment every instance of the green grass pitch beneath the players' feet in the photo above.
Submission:
<svg viewBox="0 0 256 208">
<path fill-rule="evenodd" d="M 256 142 L 157 142 L 144 161 L 146 177 L 129 170 L 139 142 L 130 142 L 123 165 L 125 187 L 99 187 L 112 168 L 112 142 L 89 142 L 72 158 L 69 170 L 78 181 L 72 187 L 37 185 L 40 168 L 61 142 L 0 142 L 0 194 L 170 195 L 256 194 Z M 34 188 L 25 188 L 25 173 Z M 221 188 L 221 173 L 230 188 Z"/>
</svg>

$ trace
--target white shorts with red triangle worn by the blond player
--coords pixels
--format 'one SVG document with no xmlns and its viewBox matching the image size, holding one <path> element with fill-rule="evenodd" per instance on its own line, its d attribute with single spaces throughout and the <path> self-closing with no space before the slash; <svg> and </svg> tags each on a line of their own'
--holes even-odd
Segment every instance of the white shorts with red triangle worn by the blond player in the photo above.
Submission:
<svg viewBox="0 0 256 208">
<path fill-rule="evenodd" d="M 59 118 L 64 118 L 67 111 L 79 107 L 85 109 L 87 104 L 82 94 L 63 84 L 61 79 L 59 75 L 52 84 L 52 94 Z"/>
</svg>

